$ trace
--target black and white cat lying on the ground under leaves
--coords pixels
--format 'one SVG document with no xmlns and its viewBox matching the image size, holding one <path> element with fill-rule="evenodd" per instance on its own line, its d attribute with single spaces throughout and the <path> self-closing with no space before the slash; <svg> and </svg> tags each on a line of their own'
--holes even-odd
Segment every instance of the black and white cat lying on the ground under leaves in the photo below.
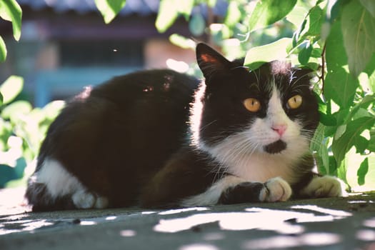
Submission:
<svg viewBox="0 0 375 250">
<path fill-rule="evenodd" d="M 179 207 L 340 196 L 312 172 L 311 71 L 249 71 L 196 46 L 205 81 L 140 71 L 87 89 L 51 124 L 29 179 L 34 211 Z"/>
</svg>

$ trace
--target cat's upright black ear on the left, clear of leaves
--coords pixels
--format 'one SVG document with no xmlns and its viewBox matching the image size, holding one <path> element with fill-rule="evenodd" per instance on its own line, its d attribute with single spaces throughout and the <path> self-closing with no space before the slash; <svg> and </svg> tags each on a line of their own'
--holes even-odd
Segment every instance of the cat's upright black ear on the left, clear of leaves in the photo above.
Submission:
<svg viewBox="0 0 375 250">
<path fill-rule="evenodd" d="M 196 61 L 206 79 L 214 71 L 226 70 L 231 67 L 231 61 L 228 61 L 218 51 L 203 43 L 196 45 Z"/>
</svg>

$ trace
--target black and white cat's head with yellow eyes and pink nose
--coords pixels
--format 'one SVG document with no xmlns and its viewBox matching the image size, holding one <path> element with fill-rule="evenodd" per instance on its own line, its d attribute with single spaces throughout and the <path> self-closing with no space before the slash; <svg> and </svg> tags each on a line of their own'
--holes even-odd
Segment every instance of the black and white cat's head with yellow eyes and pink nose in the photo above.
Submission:
<svg viewBox="0 0 375 250">
<path fill-rule="evenodd" d="M 206 151 L 289 154 L 309 150 L 319 123 L 311 71 L 273 61 L 255 71 L 228 61 L 206 44 L 196 57 L 205 87 L 194 104 L 194 141 Z"/>
</svg>

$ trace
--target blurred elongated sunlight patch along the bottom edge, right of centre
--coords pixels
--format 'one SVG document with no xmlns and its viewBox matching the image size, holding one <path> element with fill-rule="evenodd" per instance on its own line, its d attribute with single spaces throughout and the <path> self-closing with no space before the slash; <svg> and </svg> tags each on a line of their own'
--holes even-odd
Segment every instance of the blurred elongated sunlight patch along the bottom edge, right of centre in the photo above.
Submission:
<svg viewBox="0 0 375 250">
<path fill-rule="evenodd" d="M 310 233 L 300 236 L 272 236 L 246 241 L 244 249 L 285 249 L 301 246 L 329 246 L 341 241 L 338 234 Z"/>
</svg>

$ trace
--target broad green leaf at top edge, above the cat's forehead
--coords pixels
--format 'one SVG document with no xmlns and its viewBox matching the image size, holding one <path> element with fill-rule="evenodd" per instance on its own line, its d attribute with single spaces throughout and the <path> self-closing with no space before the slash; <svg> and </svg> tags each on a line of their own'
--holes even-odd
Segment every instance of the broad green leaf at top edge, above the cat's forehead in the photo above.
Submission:
<svg viewBox="0 0 375 250">
<path fill-rule="evenodd" d="M 256 3 L 249 19 L 249 31 L 261 29 L 279 21 L 296 5 L 297 0 L 262 0 Z"/>
</svg>

